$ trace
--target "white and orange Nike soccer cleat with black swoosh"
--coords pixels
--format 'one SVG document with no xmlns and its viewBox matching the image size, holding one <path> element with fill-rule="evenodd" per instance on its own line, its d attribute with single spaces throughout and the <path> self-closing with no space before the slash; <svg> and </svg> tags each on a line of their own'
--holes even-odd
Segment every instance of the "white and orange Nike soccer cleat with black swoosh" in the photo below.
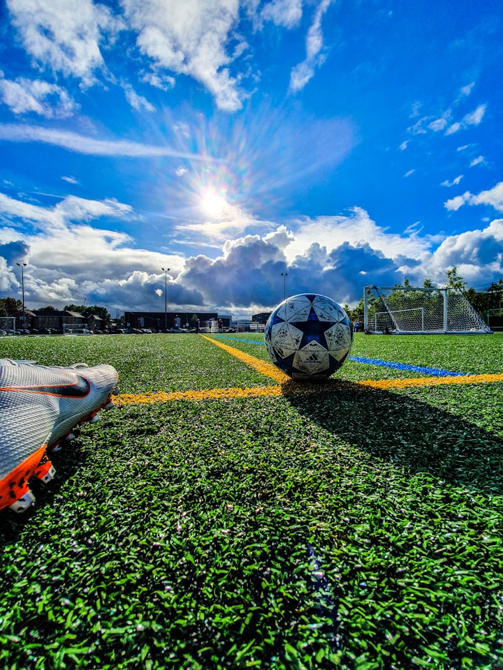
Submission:
<svg viewBox="0 0 503 670">
<path fill-rule="evenodd" d="M 48 454 L 72 429 L 96 420 L 117 393 L 111 365 L 46 367 L 0 359 L 0 509 L 24 512 L 35 498 L 29 479 L 50 482 Z"/>
</svg>

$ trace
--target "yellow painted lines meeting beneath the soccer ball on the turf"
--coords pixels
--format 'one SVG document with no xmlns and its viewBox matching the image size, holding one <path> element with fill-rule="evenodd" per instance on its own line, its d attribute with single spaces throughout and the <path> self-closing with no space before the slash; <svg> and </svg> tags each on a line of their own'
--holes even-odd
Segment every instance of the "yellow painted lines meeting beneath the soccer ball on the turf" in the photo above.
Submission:
<svg viewBox="0 0 503 670">
<path fill-rule="evenodd" d="M 448 384 L 488 384 L 492 382 L 503 382 L 503 373 L 493 375 L 463 375 L 462 377 L 419 377 L 414 379 L 367 379 L 362 382 L 347 382 L 347 380 L 328 380 L 326 384 L 309 384 L 302 385 L 300 383 L 292 382 L 292 380 L 279 371 L 272 364 L 262 361 L 254 356 L 246 354 L 245 352 L 229 347 L 212 338 L 205 337 L 206 340 L 218 347 L 224 349 L 226 352 L 245 362 L 247 365 L 255 368 L 258 372 L 270 377 L 280 383 L 280 386 L 260 386 L 260 387 L 245 387 L 245 388 L 229 388 L 229 389 L 202 389 L 200 391 L 173 391 L 173 392 L 149 392 L 149 393 L 123 393 L 115 396 L 114 403 L 116 405 L 131 405 L 136 403 L 168 403 L 176 400 L 216 400 L 229 398 L 256 398 L 259 396 L 280 396 L 290 395 L 295 393 L 313 393 L 313 392 L 333 392 L 340 388 L 338 382 L 348 384 L 353 383 L 359 386 L 370 387 L 372 389 L 403 389 L 406 387 L 421 387 L 421 386 L 441 386 Z"/>
</svg>

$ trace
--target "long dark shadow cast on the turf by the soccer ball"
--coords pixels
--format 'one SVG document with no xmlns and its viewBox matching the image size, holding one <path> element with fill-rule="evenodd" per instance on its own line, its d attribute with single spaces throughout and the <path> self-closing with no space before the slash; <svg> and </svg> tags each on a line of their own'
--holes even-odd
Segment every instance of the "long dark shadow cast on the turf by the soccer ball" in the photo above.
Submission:
<svg viewBox="0 0 503 670">
<path fill-rule="evenodd" d="M 298 411 L 372 456 L 481 493 L 503 491 L 503 440 L 450 412 L 341 380 L 283 389 Z"/>
</svg>

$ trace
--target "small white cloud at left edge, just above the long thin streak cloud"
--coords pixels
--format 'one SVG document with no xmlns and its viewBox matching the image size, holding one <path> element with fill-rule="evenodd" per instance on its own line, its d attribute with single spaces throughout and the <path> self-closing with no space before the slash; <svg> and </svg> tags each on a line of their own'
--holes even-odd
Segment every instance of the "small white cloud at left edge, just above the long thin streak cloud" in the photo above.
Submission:
<svg viewBox="0 0 503 670">
<path fill-rule="evenodd" d="M 15 81 L 0 79 L 0 102 L 10 107 L 14 114 L 34 112 L 47 119 L 69 117 L 78 109 L 61 87 L 25 77 Z"/>
</svg>

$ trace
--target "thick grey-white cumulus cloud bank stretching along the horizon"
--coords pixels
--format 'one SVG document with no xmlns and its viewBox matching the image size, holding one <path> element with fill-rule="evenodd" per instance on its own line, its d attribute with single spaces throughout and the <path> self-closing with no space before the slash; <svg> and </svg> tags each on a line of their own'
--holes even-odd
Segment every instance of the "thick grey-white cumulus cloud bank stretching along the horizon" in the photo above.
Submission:
<svg viewBox="0 0 503 670">
<path fill-rule="evenodd" d="M 493 189 L 476 197 L 501 196 Z M 354 305 L 368 284 L 395 285 L 407 276 L 416 285 L 425 278 L 442 285 L 446 268 L 456 265 L 477 286 L 496 281 L 503 271 L 503 219 L 442 237 L 421 237 L 416 224 L 403 234 L 389 232 L 363 209 L 292 219 L 288 225 L 254 219 L 257 232 L 229 237 L 210 258 L 136 248 L 129 235 L 112 229 L 113 221 L 125 216 L 136 214 L 111 200 L 65 198 L 41 207 L 2 195 L 0 218 L 10 223 L 0 228 L 3 292 L 18 294 L 15 262 L 27 262 L 30 307 L 87 299 L 122 310 L 163 311 L 161 267 L 169 267 L 170 309 L 246 316 L 282 300 L 282 272 L 288 273 L 290 295 L 319 292 Z M 100 227 L 93 227 L 98 218 Z"/>
</svg>

